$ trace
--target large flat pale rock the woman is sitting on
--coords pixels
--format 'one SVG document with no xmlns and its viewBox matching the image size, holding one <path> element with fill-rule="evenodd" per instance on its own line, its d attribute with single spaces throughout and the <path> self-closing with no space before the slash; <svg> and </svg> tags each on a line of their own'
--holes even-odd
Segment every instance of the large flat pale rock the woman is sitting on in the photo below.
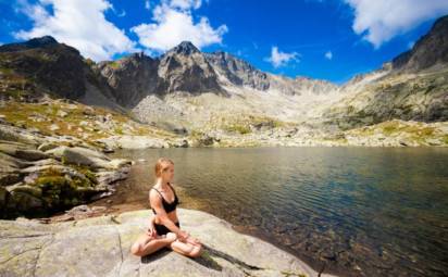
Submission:
<svg viewBox="0 0 448 277">
<path fill-rule="evenodd" d="M 133 255 L 130 245 L 148 226 L 149 210 L 55 224 L 0 221 L 0 276 L 318 276 L 294 255 L 216 216 L 177 213 L 181 227 L 202 242 L 200 257 L 170 249 Z"/>
</svg>

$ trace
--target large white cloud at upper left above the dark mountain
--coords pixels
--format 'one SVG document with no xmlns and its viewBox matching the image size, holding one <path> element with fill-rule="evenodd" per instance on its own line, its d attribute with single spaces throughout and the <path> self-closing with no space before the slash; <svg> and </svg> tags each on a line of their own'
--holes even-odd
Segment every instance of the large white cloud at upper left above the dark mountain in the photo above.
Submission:
<svg viewBox="0 0 448 277">
<path fill-rule="evenodd" d="M 49 7 L 53 10 L 52 14 L 47 11 Z M 27 14 L 34 24 L 32 29 L 18 30 L 13 35 L 20 39 L 50 35 L 95 61 L 135 51 L 135 42 L 105 20 L 104 12 L 109 9 L 113 10 L 113 7 L 107 0 L 40 0 L 36 4 L 21 0 L 18 10 Z"/>
</svg>

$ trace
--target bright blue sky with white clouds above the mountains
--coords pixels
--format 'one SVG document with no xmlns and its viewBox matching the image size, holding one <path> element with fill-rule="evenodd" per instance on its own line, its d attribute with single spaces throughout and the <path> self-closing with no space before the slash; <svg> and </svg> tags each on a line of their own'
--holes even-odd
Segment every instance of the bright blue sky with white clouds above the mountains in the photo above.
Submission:
<svg viewBox="0 0 448 277">
<path fill-rule="evenodd" d="M 0 0 L 0 43 L 50 35 L 98 62 L 189 40 L 264 72 L 344 84 L 445 14 L 448 0 Z"/>
</svg>

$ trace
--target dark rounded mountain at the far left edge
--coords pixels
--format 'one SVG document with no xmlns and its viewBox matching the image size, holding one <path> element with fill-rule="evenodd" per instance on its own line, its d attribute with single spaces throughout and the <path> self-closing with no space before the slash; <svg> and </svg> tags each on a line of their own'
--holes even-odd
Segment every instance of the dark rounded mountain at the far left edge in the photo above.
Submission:
<svg viewBox="0 0 448 277">
<path fill-rule="evenodd" d="M 90 71 L 78 50 L 50 36 L 0 46 L 0 68 L 2 97 L 47 92 L 69 99 L 85 93 Z"/>
</svg>

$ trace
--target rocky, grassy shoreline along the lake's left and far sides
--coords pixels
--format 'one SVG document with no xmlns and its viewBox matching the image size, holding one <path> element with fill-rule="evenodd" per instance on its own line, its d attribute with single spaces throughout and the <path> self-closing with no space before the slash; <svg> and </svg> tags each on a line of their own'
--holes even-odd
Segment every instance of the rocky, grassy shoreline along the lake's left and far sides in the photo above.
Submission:
<svg viewBox="0 0 448 277">
<path fill-rule="evenodd" d="M 176 135 L 73 101 L 15 104 L 11 102 L 15 109 L 0 114 L 0 218 L 45 217 L 110 196 L 133 164 L 108 156 L 117 149 L 448 146 L 448 122 L 394 119 L 333 133 L 311 126 L 249 124 L 250 131 L 242 134 Z M 17 117 L 15 110 L 25 117 Z"/>
</svg>

